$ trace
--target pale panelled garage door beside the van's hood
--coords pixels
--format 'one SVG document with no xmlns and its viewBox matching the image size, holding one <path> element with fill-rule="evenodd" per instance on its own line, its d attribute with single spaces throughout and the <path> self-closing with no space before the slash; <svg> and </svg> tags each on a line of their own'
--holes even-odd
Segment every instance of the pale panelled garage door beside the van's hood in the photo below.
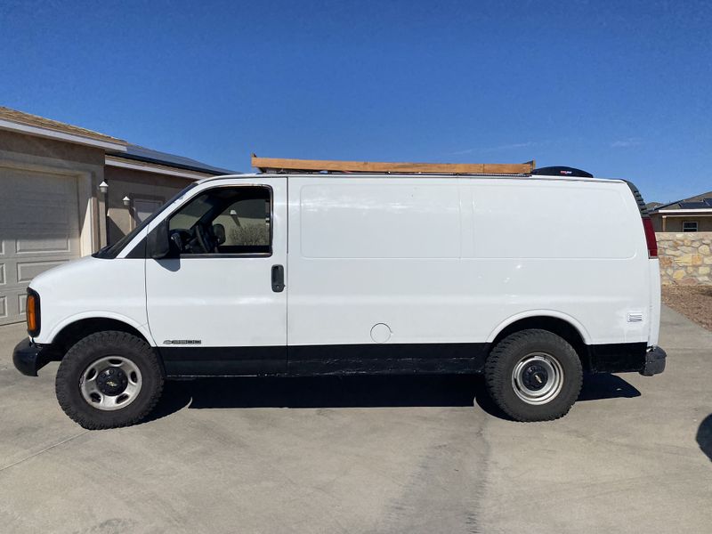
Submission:
<svg viewBox="0 0 712 534">
<path fill-rule="evenodd" d="M 0 325 L 25 320 L 28 283 L 77 258 L 77 178 L 0 163 Z"/>
</svg>

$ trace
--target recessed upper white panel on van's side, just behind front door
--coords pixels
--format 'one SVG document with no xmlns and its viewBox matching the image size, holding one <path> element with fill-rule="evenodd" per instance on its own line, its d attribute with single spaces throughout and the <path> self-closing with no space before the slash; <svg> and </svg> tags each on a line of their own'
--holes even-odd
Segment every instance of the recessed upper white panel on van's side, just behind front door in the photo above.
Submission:
<svg viewBox="0 0 712 534">
<path fill-rule="evenodd" d="M 453 260 L 460 256 L 457 180 L 334 180 L 299 190 L 305 259 Z M 294 180 L 292 181 L 294 183 Z"/>
</svg>

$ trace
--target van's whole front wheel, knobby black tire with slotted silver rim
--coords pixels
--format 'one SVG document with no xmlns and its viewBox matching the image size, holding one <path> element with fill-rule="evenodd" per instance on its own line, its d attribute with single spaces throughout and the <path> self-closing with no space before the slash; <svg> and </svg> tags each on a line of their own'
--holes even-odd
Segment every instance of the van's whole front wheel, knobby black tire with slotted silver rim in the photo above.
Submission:
<svg viewBox="0 0 712 534">
<path fill-rule="evenodd" d="M 61 360 L 55 380 L 61 409 L 90 429 L 134 425 L 154 408 L 163 391 L 156 355 L 126 332 L 86 336 Z"/>
</svg>

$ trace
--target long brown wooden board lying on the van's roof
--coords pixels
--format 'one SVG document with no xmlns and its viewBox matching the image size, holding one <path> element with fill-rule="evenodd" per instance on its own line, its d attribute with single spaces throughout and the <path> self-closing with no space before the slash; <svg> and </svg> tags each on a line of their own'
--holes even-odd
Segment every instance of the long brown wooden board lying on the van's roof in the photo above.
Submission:
<svg viewBox="0 0 712 534">
<path fill-rule="evenodd" d="M 328 159 L 257 158 L 252 166 L 263 173 L 327 171 L 332 173 L 423 173 L 423 174 L 531 174 L 534 161 L 527 163 L 386 163 Z"/>
</svg>

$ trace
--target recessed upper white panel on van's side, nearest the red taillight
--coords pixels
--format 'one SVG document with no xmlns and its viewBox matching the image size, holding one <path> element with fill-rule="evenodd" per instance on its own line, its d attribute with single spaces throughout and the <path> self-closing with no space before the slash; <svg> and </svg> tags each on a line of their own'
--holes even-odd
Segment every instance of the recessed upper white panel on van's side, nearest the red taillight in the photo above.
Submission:
<svg viewBox="0 0 712 534">
<path fill-rule="evenodd" d="M 627 209 L 627 189 L 506 180 L 465 188 L 472 193 L 476 258 L 630 260 L 638 252 L 632 230 L 640 215 Z"/>
</svg>

